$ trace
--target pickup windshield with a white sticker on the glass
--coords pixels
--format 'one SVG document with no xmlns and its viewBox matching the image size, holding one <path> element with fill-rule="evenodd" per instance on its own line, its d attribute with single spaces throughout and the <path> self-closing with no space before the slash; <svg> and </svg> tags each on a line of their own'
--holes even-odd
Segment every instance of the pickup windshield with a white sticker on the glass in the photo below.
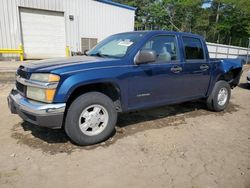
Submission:
<svg viewBox="0 0 250 188">
<path fill-rule="evenodd" d="M 124 57 L 144 33 L 122 33 L 112 35 L 92 48 L 87 55 L 100 57 Z"/>
</svg>

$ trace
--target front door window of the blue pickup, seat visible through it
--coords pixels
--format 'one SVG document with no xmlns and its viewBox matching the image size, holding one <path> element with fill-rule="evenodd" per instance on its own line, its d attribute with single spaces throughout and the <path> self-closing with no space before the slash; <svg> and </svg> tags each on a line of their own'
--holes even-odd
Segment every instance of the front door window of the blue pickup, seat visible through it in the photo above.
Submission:
<svg viewBox="0 0 250 188">
<path fill-rule="evenodd" d="M 153 50 L 156 53 L 157 63 L 167 63 L 179 59 L 175 36 L 155 36 L 144 45 L 142 50 Z"/>
</svg>

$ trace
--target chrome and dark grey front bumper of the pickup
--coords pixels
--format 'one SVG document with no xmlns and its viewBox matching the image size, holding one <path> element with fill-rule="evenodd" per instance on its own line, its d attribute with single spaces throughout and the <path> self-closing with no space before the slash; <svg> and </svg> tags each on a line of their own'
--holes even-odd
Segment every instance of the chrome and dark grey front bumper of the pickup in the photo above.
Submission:
<svg viewBox="0 0 250 188">
<path fill-rule="evenodd" d="M 23 97 L 15 89 L 11 91 L 7 99 L 11 113 L 18 114 L 23 120 L 41 127 L 62 127 L 65 103 L 36 102 Z"/>
</svg>

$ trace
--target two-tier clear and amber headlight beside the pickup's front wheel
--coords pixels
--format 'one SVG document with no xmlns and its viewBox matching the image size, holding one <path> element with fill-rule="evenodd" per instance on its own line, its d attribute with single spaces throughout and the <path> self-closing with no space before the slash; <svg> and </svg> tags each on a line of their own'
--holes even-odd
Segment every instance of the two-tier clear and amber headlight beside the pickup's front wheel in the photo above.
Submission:
<svg viewBox="0 0 250 188">
<path fill-rule="evenodd" d="M 34 73 L 31 75 L 30 80 L 43 83 L 57 83 L 60 77 L 55 74 Z M 28 98 L 47 103 L 53 101 L 55 93 L 56 88 L 41 88 L 39 86 L 28 86 L 26 91 Z"/>
</svg>

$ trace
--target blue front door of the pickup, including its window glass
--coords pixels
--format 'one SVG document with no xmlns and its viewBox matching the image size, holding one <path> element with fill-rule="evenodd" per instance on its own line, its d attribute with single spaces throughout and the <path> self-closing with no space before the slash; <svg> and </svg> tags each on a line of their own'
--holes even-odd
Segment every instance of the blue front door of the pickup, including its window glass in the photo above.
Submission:
<svg viewBox="0 0 250 188">
<path fill-rule="evenodd" d="M 141 50 L 145 49 L 155 51 L 157 59 L 131 68 L 130 109 L 158 106 L 183 97 L 183 63 L 180 62 L 176 36 L 155 36 Z"/>
</svg>

